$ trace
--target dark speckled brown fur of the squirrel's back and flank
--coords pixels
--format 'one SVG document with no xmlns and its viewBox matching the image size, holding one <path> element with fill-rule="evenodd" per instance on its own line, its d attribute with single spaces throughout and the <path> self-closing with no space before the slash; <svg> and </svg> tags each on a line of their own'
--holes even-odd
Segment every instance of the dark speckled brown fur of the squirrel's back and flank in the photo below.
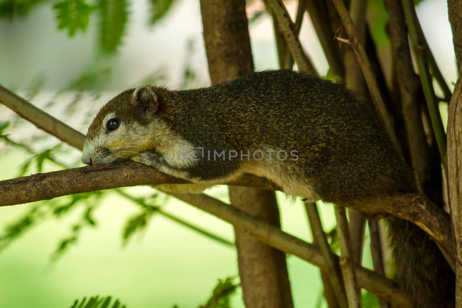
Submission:
<svg viewBox="0 0 462 308">
<path fill-rule="evenodd" d="M 226 152 L 297 151 L 297 160 L 273 158 L 270 168 L 277 163 L 279 177 L 290 170 L 324 201 L 415 190 L 413 175 L 374 107 L 341 85 L 272 70 L 208 88 L 164 91 L 160 115 L 177 133 L 201 140 L 197 146 Z M 203 165 L 199 168 L 203 172 Z"/>
</svg>

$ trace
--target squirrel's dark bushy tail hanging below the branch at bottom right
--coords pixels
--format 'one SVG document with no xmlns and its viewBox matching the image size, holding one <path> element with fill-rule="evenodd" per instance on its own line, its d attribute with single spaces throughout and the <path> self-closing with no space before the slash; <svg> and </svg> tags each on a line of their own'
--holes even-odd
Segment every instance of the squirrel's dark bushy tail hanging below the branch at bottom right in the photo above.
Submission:
<svg viewBox="0 0 462 308">
<path fill-rule="evenodd" d="M 395 280 L 415 308 L 455 307 L 455 275 L 435 242 L 407 220 L 387 219 Z"/>
</svg>

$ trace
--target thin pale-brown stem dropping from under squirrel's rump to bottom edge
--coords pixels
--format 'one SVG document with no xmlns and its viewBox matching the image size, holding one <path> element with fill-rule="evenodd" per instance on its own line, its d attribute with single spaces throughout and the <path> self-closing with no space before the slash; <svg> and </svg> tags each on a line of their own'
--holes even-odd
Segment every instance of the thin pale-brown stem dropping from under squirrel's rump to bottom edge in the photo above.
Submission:
<svg viewBox="0 0 462 308">
<path fill-rule="evenodd" d="M 351 254 L 351 240 L 348 232 L 348 220 L 346 219 L 345 208 L 334 205 L 335 218 L 337 219 L 337 232 L 340 247 L 340 268 L 345 282 L 346 297 L 349 308 L 361 307 L 359 304 L 360 289 L 357 286 L 353 271 L 353 258 Z"/>
</svg>

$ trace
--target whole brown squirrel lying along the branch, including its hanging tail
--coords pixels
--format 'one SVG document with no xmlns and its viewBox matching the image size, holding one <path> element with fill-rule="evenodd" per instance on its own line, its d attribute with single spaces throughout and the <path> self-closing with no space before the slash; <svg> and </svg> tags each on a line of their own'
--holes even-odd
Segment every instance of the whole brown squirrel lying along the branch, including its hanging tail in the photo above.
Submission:
<svg viewBox="0 0 462 308">
<path fill-rule="evenodd" d="M 418 192 L 373 105 L 304 72 L 252 72 L 231 82 L 171 91 L 142 85 L 118 94 L 92 121 L 82 162 L 133 160 L 199 193 L 243 173 L 307 202 L 345 204 Z M 417 226 L 387 219 L 395 278 L 414 307 L 454 307 L 455 276 Z"/>
</svg>

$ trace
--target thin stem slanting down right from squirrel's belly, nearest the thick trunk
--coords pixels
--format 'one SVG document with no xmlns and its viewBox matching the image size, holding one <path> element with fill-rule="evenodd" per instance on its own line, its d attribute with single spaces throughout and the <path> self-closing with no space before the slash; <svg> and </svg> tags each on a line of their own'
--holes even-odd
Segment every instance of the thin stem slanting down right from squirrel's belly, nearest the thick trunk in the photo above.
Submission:
<svg viewBox="0 0 462 308">
<path fill-rule="evenodd" d="M 337 302 L 340 304 L 341 308 L 348 307 L 346 293 L 341 278 L 340 268 L 338 263 L 335 262 L 332 252 L 330 251 L 330 245 L 327 241 L 326 234 L 322 229 L 321 219 L 319 218 L 319 213 L 317 211 L 316 203 L 305 202 L 306 212 L 308 214 L 308 219 L 310 221 L 311 233 L 313 234 L 313 239 L 316 239 L 316 244 L 321 250 L 322 257 L 324 262 L 327 265 L 327 273 L 329 276 L 330 283 L 334 289 L 335 297 Z"/>
</svg>

